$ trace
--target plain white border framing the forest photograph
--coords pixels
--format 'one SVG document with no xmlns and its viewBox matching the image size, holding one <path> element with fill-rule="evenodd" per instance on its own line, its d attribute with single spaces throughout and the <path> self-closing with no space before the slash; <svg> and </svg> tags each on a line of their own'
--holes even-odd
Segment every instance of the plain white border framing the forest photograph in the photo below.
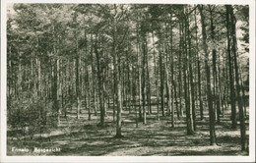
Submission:
<svg viewBox="0 0 256 163">
<path fill-rule="evenodd" d="M 250 122 L 249 156 L 6 156 L 6 6 L 7 3 L 158 3 L 249 5 Z M 1 0 L 1 153 L 0 162 L 255 162 L 255 1 L 254 0 Z"/>
</svg>

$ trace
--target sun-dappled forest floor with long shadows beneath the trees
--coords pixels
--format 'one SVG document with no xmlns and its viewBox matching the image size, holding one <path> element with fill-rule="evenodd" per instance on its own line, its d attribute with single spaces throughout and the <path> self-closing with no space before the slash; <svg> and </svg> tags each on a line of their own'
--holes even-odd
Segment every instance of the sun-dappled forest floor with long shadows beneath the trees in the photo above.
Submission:
<svg viewBox="0 0 256 163">
<path fill-rule="evenodd" d="M 69 113 L 68 119 L 61 119 L 57 129 L 49 134 L 33 136 L 30 138 L 17 138 L 8 136 L 7 155 L 62 155 L 62 156 L 173 156 L 173 155 L 248 155 L 240 152 L 239 126 L 230 128 L 229 113 L 221 118 L 221 123 L 216 125 L 217 143 L 210 145 L 209 121 L 197 119 L 197 131 L 192 136 L 187 136 L 185 117 L 177 120 L 171 128 L 169 116 L 157 120 L 157 108 L 153 106 L 153 114 L 147 115 L 147 125 L 139 122 L 136 128 L 136 117 L 133 111 L 122 111 L 122 136 L 116 138 L 115 124 L 112 122 L 111 109 L 105 117 L 106 127 L 97 126 L 99 113 L 92 114 L 88 121 L 88 113 L 82 110 L 81 118 L 76 119 L 76 110 Z M 226 111 L 228 112 L 228 111 Z M 205 115 L 208 113 L 205 112 Z M 246 120 L 248 137 L 248 120 Z M 13 151 L 15 148 L 28 148 L 28 152 Z M 60 148 L 58 152 L 34 152 L 33 148 Z"/>
</svg>

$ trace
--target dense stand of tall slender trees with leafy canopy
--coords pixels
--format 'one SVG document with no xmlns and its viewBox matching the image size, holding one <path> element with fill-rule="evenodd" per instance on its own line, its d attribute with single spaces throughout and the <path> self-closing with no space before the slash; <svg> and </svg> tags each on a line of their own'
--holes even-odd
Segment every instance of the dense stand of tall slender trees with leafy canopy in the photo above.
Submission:
<svg viewBox="0 0 256 163">
<path fill-rule="evenodd" d="M 158 121 L 170 116 L 173 128 L 185 116 L 187 135 L 209 117 L 211 144 L 216 144 L 215 124 L 230 108 L 232 128 L 238 121 L 245 150 L 248 10 L 14 4 L 7 22 L 8 125 L 45 132 L 74 108 L 77 119 L 86 110 L 88 121 L 98 116 L 103 127 L 111 109 L 120 137 L 127 109 L 136 114 L 137 127 L 147 124 L 148 114 L 156 113 Z"/>
</svg>

